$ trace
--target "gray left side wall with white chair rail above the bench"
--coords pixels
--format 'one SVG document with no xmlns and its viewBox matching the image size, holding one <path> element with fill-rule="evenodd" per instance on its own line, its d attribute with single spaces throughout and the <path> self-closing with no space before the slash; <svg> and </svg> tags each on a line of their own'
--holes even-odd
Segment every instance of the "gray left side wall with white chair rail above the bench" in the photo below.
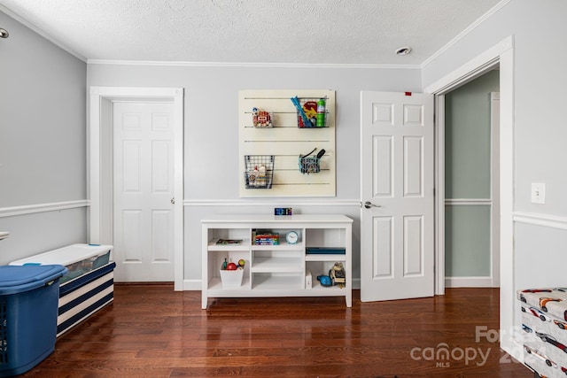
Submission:
<svg viewBox="0 0 567 378">
<path fill-rule="evenodd" d="M 86 208 L 9 215 L 86 199 L 86 64 L 0 12 L 0 265 L 86 241 Z"/>
</svg>

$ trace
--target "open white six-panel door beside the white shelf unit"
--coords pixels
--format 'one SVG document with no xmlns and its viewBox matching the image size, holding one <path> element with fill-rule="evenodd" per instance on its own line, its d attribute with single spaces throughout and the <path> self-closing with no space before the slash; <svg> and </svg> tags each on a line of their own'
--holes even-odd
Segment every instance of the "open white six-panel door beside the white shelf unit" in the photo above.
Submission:
<svg viewBox="0 0 567 378">
<path fill-rule="evenodd" d="M 433 96 L 361 92 L 361 300 L 431 297 Z"/>
</svg>

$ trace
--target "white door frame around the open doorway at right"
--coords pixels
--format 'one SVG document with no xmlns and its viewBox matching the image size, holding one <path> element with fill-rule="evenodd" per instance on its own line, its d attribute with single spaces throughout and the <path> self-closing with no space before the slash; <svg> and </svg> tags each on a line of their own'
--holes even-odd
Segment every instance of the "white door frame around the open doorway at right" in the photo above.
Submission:
<svg viewBox="0 0 567 378">
<path fill-rule="evenodd" d="M 522 351 L 514 342 L 514 320 L 516 295 L 514 286 L 514 38 L 497 43 L 492 48 L 471 59 L 452 73 L 424 89 L 425 93 L 441 96 L 460 87 L 462 84 L 476 79 L 478 76 L 500 66 L 500 329 L 501 348 L 514 358 L 522 359 Z M 439 109 L 439 107 L 438 107 Z M 436 109 L 436 110 L 438 110 Z M 439 115 L 439 113 L 437 113 Z M 439 118 L 438 118 L 439 120 Z M 442 135 L 438 132 L 438 148 L 436 156 L 436 189 L 435 197 L 436 228 L 435 249 L 436 261 L 436 294 L 445 293 L 445 166 Z M 440 137 L 439 137 L 440 136 Z"/>
</svg>

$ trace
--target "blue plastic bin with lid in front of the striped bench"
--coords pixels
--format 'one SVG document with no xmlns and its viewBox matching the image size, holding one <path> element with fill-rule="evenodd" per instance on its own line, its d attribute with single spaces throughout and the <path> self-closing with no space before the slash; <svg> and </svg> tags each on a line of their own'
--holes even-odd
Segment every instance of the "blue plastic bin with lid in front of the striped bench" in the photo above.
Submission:
<svg viewBox="0 0 567 378">
<path fill-rule="evenodd" d="M 0 266 L 0 377 L 27 372 L 55 349 L 63 274 L 59 265 Z"/>
</svg>

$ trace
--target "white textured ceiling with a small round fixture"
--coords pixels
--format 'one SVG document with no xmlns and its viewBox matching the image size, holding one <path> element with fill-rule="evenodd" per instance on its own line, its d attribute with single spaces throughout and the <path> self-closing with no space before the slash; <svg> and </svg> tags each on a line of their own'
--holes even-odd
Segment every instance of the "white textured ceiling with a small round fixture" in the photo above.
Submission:
<svg viewBox="0 0 567 378">
<path fill-rule="evenodd" d="M 87 59 L 339 65 L 420 65 L 498 3 L 0 0 Z M 396 56 L 405 45 L 411 54 Z"/>
</svg>

